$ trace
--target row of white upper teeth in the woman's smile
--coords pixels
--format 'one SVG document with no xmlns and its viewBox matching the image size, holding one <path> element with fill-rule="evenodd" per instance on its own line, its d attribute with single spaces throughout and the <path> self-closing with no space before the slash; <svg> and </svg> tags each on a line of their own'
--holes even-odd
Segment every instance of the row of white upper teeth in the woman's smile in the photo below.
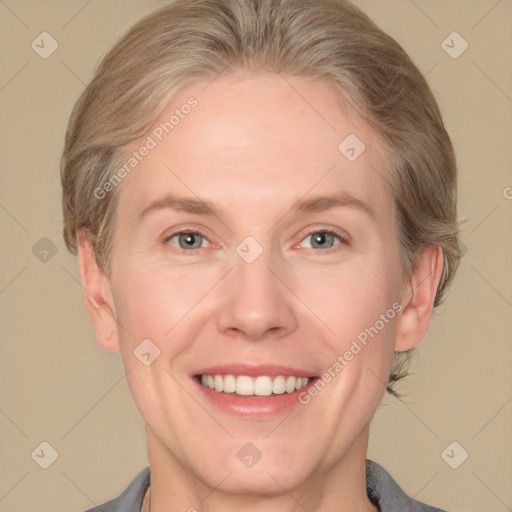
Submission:
<svg viewBox="0 0 512 512">
<path fill-rule="evenodd" d="M 202 375 L 201 384 L 207 388 L 224 393 L 238 395 L 270 396 L 293 393 L 307 386 L 308 377 L 249 377 L 247 375 Z"/>
</svg>

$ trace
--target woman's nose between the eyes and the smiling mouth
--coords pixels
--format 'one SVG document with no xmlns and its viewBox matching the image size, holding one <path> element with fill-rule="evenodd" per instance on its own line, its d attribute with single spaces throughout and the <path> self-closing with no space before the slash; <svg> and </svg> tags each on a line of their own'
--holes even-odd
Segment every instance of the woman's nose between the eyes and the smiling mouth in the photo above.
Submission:
<svg viewBox="0 0 512 512">
<path fill-rule="evenodd" d="M 249 341 L 279 338 L 297 328 L 293 294 L 269 251 L 252 263 L 236 255 L 220 290 L 218 328 Z M 283 274 L 283 275 L 280 275 Z"/>
</svg>

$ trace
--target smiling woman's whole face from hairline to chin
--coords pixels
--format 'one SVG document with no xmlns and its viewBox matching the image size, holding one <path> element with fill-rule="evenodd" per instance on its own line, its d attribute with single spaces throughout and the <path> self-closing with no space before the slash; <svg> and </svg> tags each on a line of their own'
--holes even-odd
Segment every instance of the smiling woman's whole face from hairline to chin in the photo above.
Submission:
<svg viewBox="0 0 512 512">
<path fill-rule="evenodd" d="M 365 451 L 384 391 L 402 282 L 384 149 L 324 83 L 206 85 L 132 148 L 151 146 L 120 185 L 119 345 L 150 460 L 280 492 Z"/>
</svg>

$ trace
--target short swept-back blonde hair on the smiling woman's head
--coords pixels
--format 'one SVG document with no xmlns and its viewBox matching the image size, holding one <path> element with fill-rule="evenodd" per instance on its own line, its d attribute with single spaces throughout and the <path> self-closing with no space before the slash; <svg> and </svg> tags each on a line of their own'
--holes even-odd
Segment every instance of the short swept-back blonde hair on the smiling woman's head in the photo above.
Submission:
<svg viewBox="0 0 512 512">
<path fill-rule="evenodd" d="M 68 249 L 76 254 L 85 230 L 108 273 L 122 186 L 102 199 L 95 190 L 178 89 L 255 67 L 331 84 L 381 135 L 405 272 L 423 247 L 443 252 L 437 306 L 460 259 L 453 147 L 421 72 L 345 0 L 177 0 L 132 27 L 105 55 L 69 121 L 61 161 Z M 408 355 L 395 354 L 392 393 Z"/>
</svg>

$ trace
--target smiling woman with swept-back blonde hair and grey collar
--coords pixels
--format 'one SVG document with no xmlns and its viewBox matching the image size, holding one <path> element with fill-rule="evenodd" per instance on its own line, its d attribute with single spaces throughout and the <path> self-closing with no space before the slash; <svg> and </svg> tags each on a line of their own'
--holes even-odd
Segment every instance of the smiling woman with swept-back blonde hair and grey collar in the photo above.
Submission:
<svg viewBox="0 0 512 512">
<path fill-rule="evenodd" d="M 64 237 L 149 468 L 92 510 L 439 510 L 366 460 L 460 257 L 456 163 L 343 0 L 178 0 L 70 119 Z"/>
</svg>

